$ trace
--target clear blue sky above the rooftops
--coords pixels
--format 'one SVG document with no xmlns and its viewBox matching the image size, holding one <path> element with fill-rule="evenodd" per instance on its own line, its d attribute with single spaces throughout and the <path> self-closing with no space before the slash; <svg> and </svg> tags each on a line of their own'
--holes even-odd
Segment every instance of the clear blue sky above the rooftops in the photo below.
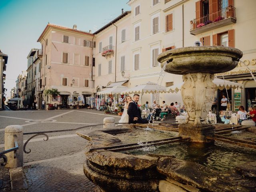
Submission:
<svg viewBox="0 0 256 192">
<path fill-rule="evenodd" d="M 78 30 L 96 31 L 124 11 L 128 0 L 0 0 L 0 49 L 8 54 L 6 96 L 16 86 L 15 80 L 27 69 L 27 56 L 48 24 Z"/>
</svg>

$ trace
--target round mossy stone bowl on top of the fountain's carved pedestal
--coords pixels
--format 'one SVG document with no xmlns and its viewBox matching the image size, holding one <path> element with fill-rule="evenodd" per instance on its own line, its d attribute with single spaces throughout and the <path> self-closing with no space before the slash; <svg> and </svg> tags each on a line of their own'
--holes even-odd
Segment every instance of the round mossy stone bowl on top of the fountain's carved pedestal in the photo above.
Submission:
<svg viewBox="0 0 256 192">
<path fill-rule="evenodd" d="M 161 53 L 157 60 L 164 65 L 170 61 L 165 71 L 173 74 L 220 73 L 234 69 L 242 57 L 242 51 L 223 46 L 199 46 L 168 50 Z"/>
</svg>

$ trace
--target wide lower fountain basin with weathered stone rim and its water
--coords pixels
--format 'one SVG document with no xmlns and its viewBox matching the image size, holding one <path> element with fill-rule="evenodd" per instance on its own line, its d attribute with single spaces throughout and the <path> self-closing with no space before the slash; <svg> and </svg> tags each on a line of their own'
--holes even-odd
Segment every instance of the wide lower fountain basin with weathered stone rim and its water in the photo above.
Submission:
<svg viewBox="0 0 256 192">
<path fill-rule="evenodd" d="M 184 142 L 189 138 L 178 138 L 177 132 L 138 126 L 77 134 L 90 141 L 86 144 L 84 173 L 102 191 L 256 190 L 256 149 L 220 142 L 189 143 Z M 129 136 L 138 142 L 129 142 Z M 148 149 L 141 148 L 143 145 Z"/>
</svg>

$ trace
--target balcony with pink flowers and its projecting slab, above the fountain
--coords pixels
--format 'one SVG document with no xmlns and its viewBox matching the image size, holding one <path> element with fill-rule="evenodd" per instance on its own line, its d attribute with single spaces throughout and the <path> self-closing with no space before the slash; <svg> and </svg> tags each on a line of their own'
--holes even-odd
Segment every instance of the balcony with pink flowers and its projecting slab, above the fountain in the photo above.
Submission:
<svg viewBox="0 0 256 192">
<path fill-rule="evenodd" d="M 233 23 L 236 23 L 236 8 L 228 6 L 190 21 L 190 34 L 197 35 Z"/>
</svg>

